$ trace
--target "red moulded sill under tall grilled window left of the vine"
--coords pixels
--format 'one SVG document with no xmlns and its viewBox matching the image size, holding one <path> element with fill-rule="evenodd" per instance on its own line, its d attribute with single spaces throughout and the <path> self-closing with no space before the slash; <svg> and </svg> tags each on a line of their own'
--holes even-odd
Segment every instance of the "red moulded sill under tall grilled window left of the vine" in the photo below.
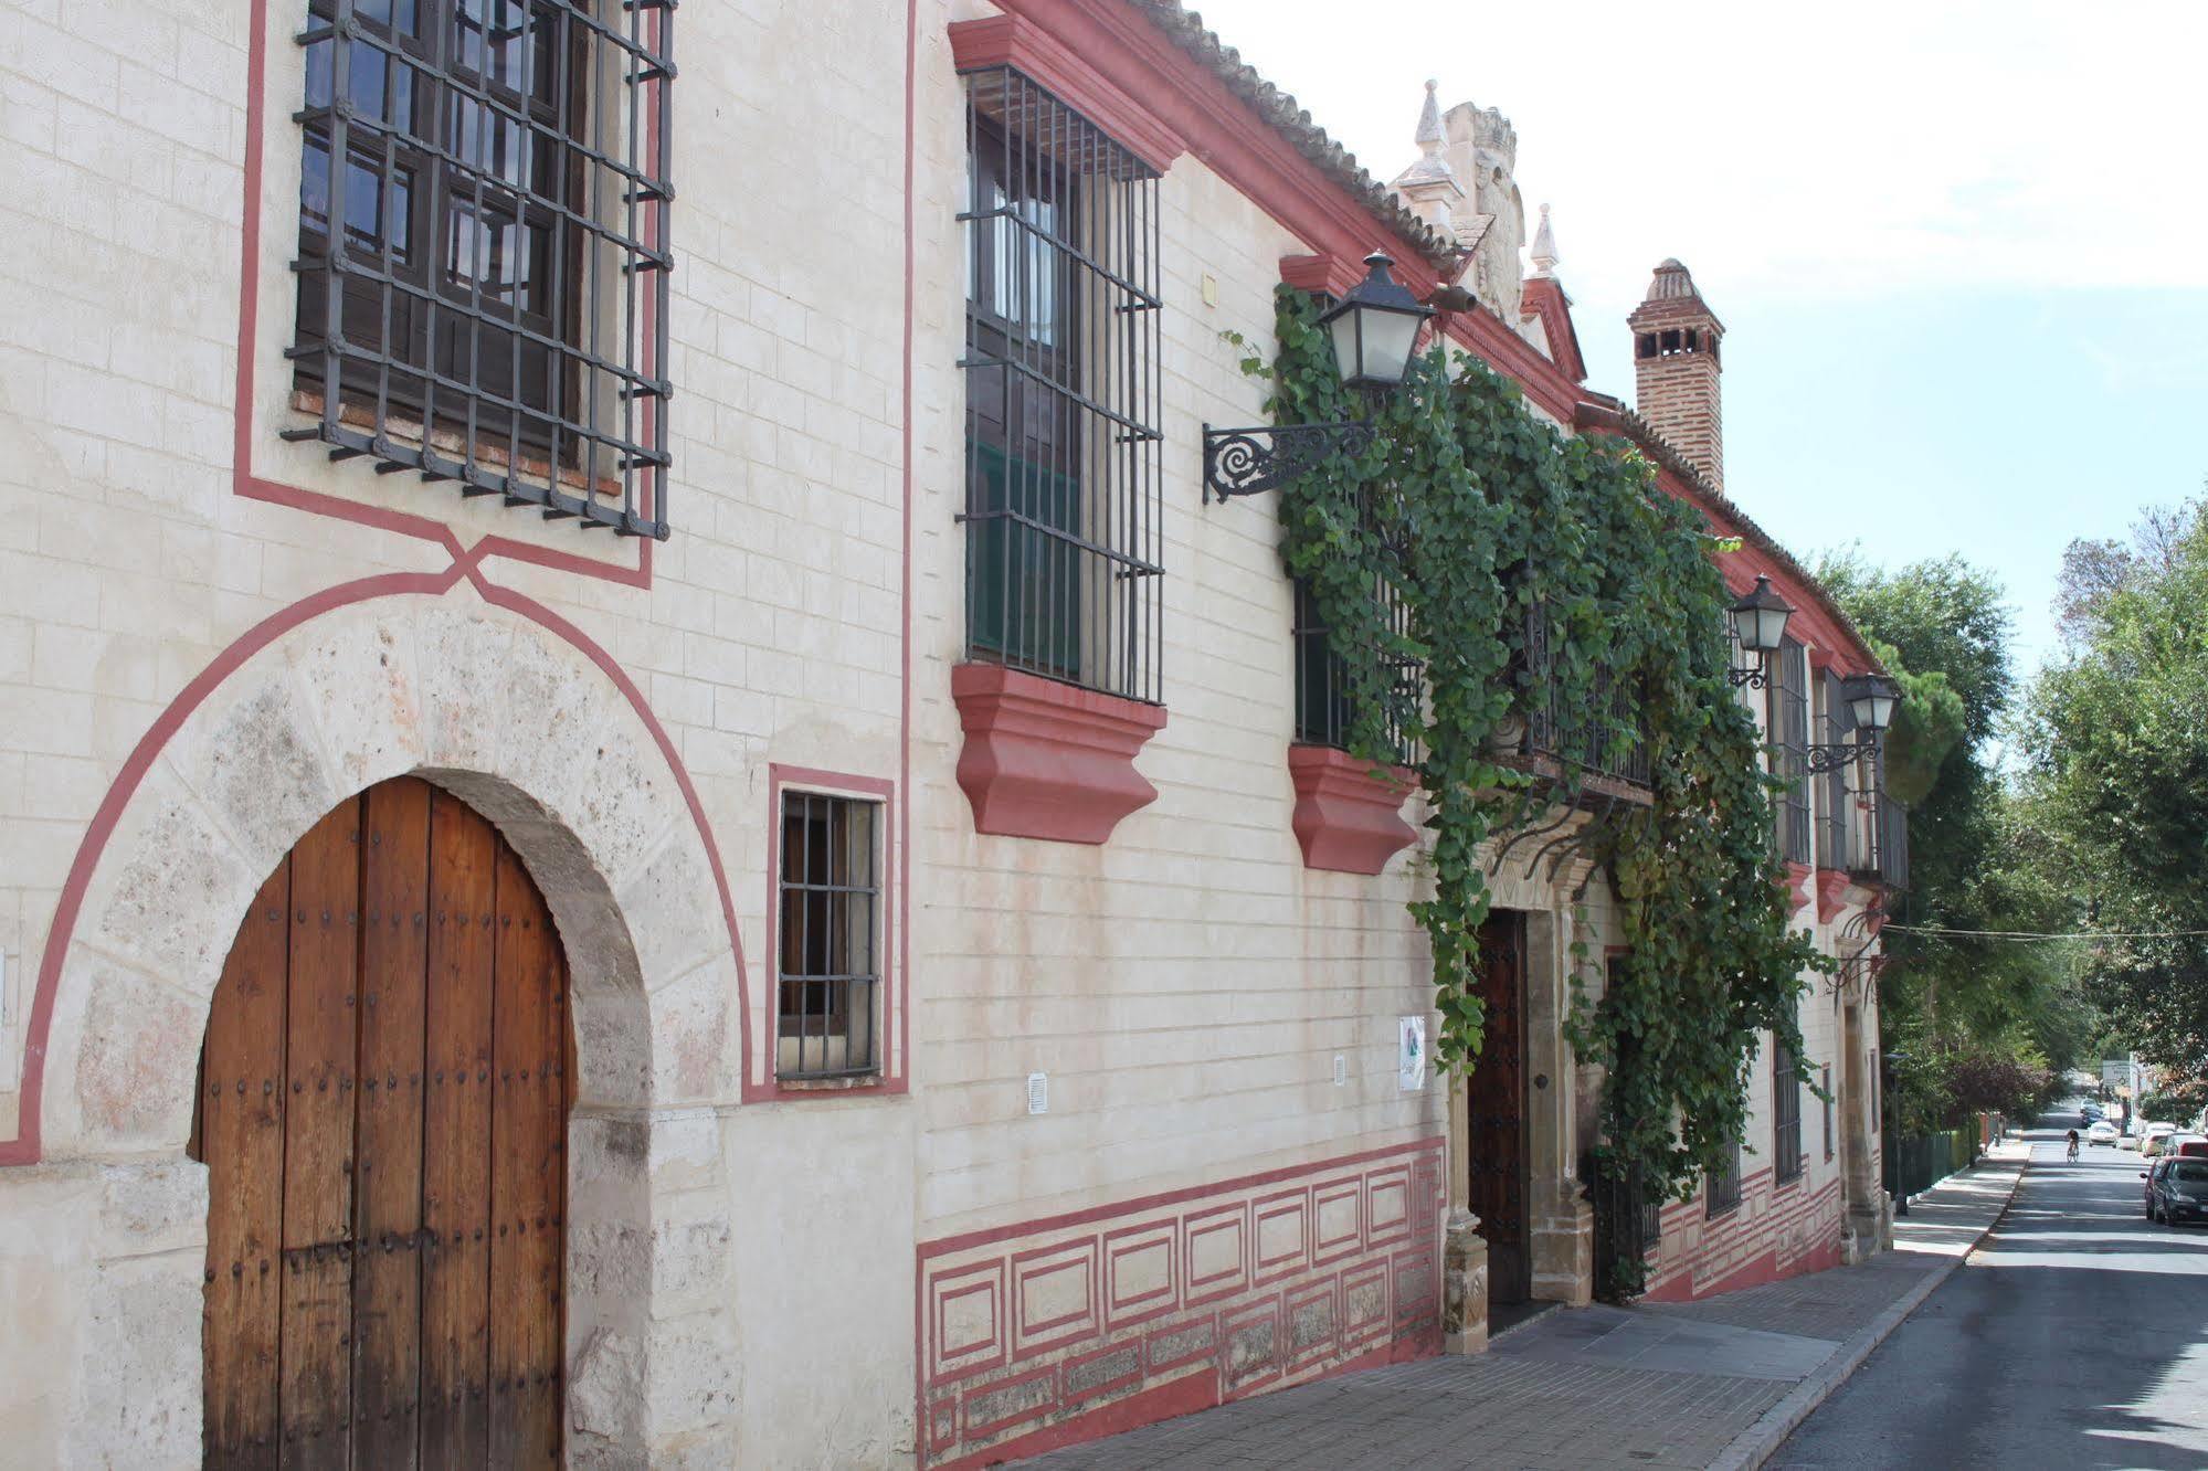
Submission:
<svg viewBox="0 0 2208 1471">
<path fill-rule="evenodd" d="M 965 729 L 958 786 L 976 833 L 1102 844 L 1122 817 L 1157 802 L 1135 753 L 1164 729 L 1164 705 L 983 663 L 952 669 L 952 700 Z"/>
</svg>

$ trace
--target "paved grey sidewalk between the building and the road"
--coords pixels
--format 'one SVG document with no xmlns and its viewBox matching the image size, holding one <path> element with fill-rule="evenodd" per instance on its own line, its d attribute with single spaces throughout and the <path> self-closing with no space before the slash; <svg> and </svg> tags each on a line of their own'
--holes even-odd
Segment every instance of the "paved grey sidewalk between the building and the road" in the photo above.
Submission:
<svg viewBox="0 0 2208 1471">
<path fill-rule="evenodd" d="M 1020 1462 L 1139 1467 L 1760 1467 L 2007 1208 L 2029 1146 L 1910 1202 L 1894 1250 L 1700 1303 L 1550 1312 L 1475 1358 L 1263 1394 Z"/>
</svg>

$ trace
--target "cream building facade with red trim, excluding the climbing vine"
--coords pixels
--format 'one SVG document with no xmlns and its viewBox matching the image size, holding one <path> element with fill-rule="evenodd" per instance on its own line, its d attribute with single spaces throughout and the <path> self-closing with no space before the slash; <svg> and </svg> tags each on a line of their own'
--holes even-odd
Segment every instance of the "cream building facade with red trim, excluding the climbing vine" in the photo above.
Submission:
<svg viewBox="0 0 2208 1471">
<path fill-rule="evenodd" d="M 1588 389 L 1506 119 L 1387 190 L 1170 0 L 0 15 L 11 1453 L 983 1464 L 1588 1301 L 1605 879 L 1499 842 L 1515 1067 L 1406 1067 L 1415 795 L 1201 490 L 1223 334 L 1384 247 L 1800 607 L 1775 760 L 1837 718 L 1716 318 Z M 1656 1292 L 1883 1230 L 1892 824 L 1797 791 L 1835 1102 Z"/>
</svg>

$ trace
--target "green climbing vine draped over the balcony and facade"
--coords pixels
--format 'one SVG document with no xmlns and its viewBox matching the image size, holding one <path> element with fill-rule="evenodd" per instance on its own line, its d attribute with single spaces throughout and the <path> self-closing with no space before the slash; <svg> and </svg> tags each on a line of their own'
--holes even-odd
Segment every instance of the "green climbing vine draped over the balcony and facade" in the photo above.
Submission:
<svg viewBox="0 0 2208 1471">
<path fill-rule="evenodd" d="M 1468 1073 L 1484 1040 L 1488 839 L 1583 782 L 1570 762 L 1532 780 L 1499 760 L 1506 738 L 1546 709 L 1607 711 L 1621 682 L 1634 718 L 1588 718 L 1596 742 L 1638 727 L 1652 802 L 1588 833 L 1630 952 L 1601 1005 L 1574 1007 L 1572 1043 L 1610 1078 L 1601 1168 L 1685 1197 L 1742 1135 L 1758 1029 L 1802 1056 L 1802 972 L 1824 965 L 1788 925 L 1758 729 L 1724 678 L 1711 537 L 1641 455 L 1557 433 L 1477 360 L 1433 349 L 1367 402 L 1342 387 L 1309 296 L 1283 287 L 1276 329 L 1276 422 L 1376 428 L 1283 490 L 1281 554 L 1342 656 L 1345 744 L 1409 760 L 1426 795 L 1433 888 L 1411 912 L 1433 950 L 1437 1065 Z M 1243 367 L 1267 373 L 1256 356 Z M 1528 649 L 1537 607 L 1546 647 Z M 1424 676 L 1398 676 L 1413 667 Z"/>
</svg>

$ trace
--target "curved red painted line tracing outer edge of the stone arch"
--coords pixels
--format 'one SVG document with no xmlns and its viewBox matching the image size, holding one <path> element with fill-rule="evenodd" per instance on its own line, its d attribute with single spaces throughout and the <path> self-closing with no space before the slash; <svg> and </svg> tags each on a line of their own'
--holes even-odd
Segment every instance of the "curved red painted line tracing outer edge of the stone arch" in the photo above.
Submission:
<svg viewBox="0 0 2208 1471">
<path fill-rule="evenodd" d="M 367 603 L 386 596 L 442 596 L 461 576 L 475 583 L 477 592 L 486 603 L 495 603 L 510 612 L 517 612 L 541 627 L 550 629 L 565 643 L 574 645 L 585 658 L 598 665 L 601 671 L 614 687 L 620 689 L 623 698 L 629 700 L 636 716 L 645 722 L 651 733 L 654 744 L 658 744 L 660 755 L 667 758 L 673 771 L 676 786 L 682 791 L 682 800 L 689 806 L 691 822 L 698 824 L 698 837 L 704 844 L 707 861 L 713 870 L 713 883 L 720 890 L 720 912 L 722 921 L 729 925 L 729 945 L 735 954 L 735 1001 L 740 1014 L 740 1056 L 749 1056 L 749 1009 L 744 1003 L 744 945 L 735 928 L 735 901 L 729 892 L 729 879 L 720 861 L 720 848 L 713 844 L 713 828 L 704 817 L 704 806 L 698 800 L 698 789 L 691 784 L 689 771 L 682 766 L 682 758 L 669 740 L 667 729 L 651 713 L 645 702 L 643 691 L 627 671 L 614 663 L 612 654 L 598 647 L 578 627 L 543 607 L 534 599 L 519 592 L 495 585 L 481 574 L 477 565 L 484 557 L 481 543 L 461 554 L 444 572 L 386 572 L 380 576 L 367 576 L 351 583 L 338 583 L 336 588 L 325 588 L 311 596 L 283 607 L 261 623 L 252 625 L 241 634 L 230 647 L 216 654 L 205 669 L 201 669 L 192 682 L 188 682 L 174 700 L 170 700 L 161 713 L 155 718 L 152 727 L 139 738 L 124 760 L 121 771 L 108 786 L 106 795 L 99 800 L 99 808 L 93 813 L 91 826 L 84 830 L 84 839 L 77 844 L 77 857 L 68 866 L 68 877 L 62 883 L 60 901 L 53 910 L 53 923 L 46 925 L 46 948 L 40 956 L 38 967 L 38 990 L 31 996 L 31 1014 L 24 1036 L 24 1065 L 22 1065 L 22 1113 L 18 1122 L 18 1137 L 0 1144 L 0 1166 L 7 1164 L 38 1164 L 42 1157 L 40 1126 L 44 1118 L 44 1076 L 46 1076 L 46 1038 L 53 1027 L 53 1003 L 62 985 L 62 963 L 68 956 L 68 945 L 75 939 L 77 919 L 84 908 L 84 892 L 91 888 L 93 870 L 99 866 L 99 857 L 106 850 L 108 839 L 115 835 L 115 824 L 121 822 L 124 808 L 137 793 L 139 782 L 146 780 L 146 771 L 161 755 L 161 749 L 170 738 L 183 727 L 183 722 L 199 709 L 199 705 L 227 680 L 236 669 L 265 649 L 276 638 L 285 636 L 294 627 L 318 618 L 336 607 L 347 607 L 351 603 Z"/>
</svg>

